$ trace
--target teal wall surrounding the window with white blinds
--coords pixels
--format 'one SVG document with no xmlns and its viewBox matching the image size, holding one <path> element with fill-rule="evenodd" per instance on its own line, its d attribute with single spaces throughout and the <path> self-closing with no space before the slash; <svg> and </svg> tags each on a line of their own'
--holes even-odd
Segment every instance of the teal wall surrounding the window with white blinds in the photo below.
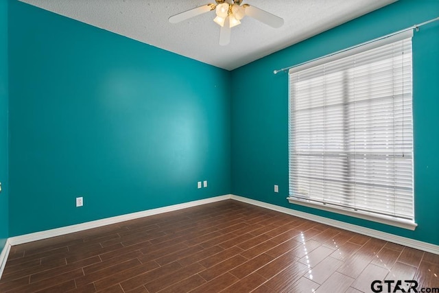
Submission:
<svg viewBox="0 0 439 293">
<path fill-rule="evenodd" d="M 274 69 L 297 65 L 439 16 L 439 1 L 400 0 L 232 72 L 232 193 L 282 207 L 439 244 L 439 22 L 415 32 L 415 231 L 289 204 L 288 81 Z M 275 194 L 273 186 L 279 185 Z"/>
</svg>

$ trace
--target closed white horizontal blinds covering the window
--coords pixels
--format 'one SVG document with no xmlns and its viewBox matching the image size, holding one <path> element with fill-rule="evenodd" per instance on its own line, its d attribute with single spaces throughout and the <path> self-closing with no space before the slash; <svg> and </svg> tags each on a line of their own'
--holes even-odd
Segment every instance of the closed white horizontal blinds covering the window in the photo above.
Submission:
<svg viewBox="0 0 439 293">
<path fill-rule="evenodd" d="M 414 219 L 411 37 L 290 70 L 289 196 Z"/>
</svg>

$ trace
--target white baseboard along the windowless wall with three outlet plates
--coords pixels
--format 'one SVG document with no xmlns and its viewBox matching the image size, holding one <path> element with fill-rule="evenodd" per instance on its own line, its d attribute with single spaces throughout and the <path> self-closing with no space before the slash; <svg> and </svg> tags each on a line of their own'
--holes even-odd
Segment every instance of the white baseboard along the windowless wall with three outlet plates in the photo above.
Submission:
<svg viewBox="0 0 439 293">
<path fill-rule="evenodd" d="M 65 226 L 61 228 L 54 228 L 47 231 L 41 231 L 36 233 L 30 233 L 15 237 L 10 237 L 9 243 L 10 245 L 18 245 L 18 244 L 24 244 L 27 242 L 32 242 L 36 240 L 46 239 L 50 237 L 56 237 L 60 235 L 65 235 L 69 233 L 74 233 L 78 231 L 84 231 L 91 228 L 97 228 L 101 226 L 106 226 L 110 224 L 116 224 L 119 222 L 124 222 L 128 220 L 134 220 L 138 218 L 147 217 L 148 215 L 157 215 L 158 213 L 167 213 L 169 211 L 177 211 L 179 209 L 186 209 L 188 207 L 195 207 L 201 204 L 209 204 L 211 202 L 217 202 L 220 200 L 228 200 L 230 199 L 230 194 L 227 194 L 225 196 L 215 196 L 213 198 L 206 198 L 204 200 L 194 200 L 192 202 L 184 202 L 182 204 L 174 204 L 167 207 L 159 207 L 157 209 L 148 209 L 146 211 L 139 211 L 137 213 L 128 213 L 126 215 L 117 215 L 116 217 L 111 218 L 105 218 L 101 220 L 95 220 L 91 222 L 85 222 L 82 224 L 75 224 L 71 226 Z"/>
</svg>

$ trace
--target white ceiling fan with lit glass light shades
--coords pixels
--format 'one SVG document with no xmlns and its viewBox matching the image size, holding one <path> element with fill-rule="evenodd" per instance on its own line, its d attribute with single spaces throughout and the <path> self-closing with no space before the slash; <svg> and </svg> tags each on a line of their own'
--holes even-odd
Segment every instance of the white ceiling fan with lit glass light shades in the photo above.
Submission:
<svg viewBox="0 0 439 293">
<path fill-rule="evenodd" d="M 169 17 L 169 23 L 179 23 L 193 16 L 215 10 L 216 17 L 213 21 L 221 27 L 219 30 L 219 45 L 222 46 L 230 43 L 230 29 L 239 25 L 244 16 L 250 16 L 253 19 L 257 19 L 275 28 L 283 25 L 283 19 L 281 17 L 261 10 L 253 5 L 241 5 L 242 0 L 215 0 L 215 2 L 216 4 L 209 3 L 173 15 Z"/>
</svg>

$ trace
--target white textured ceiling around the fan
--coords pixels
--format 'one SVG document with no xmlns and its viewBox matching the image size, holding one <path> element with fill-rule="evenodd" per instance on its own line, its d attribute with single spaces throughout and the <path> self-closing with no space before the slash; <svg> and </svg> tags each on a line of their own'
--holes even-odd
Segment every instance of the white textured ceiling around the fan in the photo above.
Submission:
<svg viewBox="0 0 439 293">
<path fill-rule="evenodd" d="M 396 0 L 247 0 L 285 20 L 274 29 L 246 16 L 218 45 L 219 26 L 207 12 L 181 23 L 171 15 L 214 0 L 21 0 L 223 69 L 233 70 Z"/>
</svg>

